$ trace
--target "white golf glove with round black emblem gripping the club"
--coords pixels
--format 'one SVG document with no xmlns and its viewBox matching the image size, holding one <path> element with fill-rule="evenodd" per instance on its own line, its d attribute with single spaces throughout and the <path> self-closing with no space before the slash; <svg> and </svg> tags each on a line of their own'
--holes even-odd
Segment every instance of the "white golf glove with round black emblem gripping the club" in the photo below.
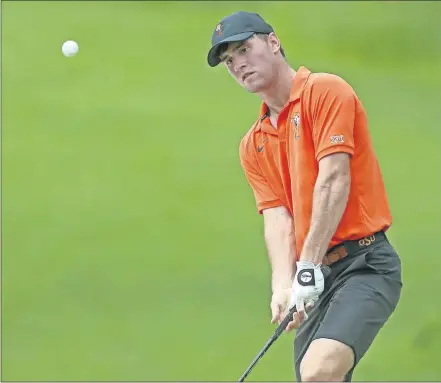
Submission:
<svg viewBox="0 0 441 383">
<path fill-rule="evenodd" d="M 303 313 L 305 320 L 308 319 L 305 305 L 312 307 L 318 301 L 324 288 L 325 278 L 320 265 L 298 261 L 289 308 L 296 306 L 297 312 Z"/>
</svg>

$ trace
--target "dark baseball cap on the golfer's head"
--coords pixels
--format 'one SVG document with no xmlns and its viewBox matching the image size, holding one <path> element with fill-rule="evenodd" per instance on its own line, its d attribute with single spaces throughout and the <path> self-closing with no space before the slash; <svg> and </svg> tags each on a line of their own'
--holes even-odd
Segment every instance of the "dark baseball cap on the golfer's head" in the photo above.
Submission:
<svg viewBox="0 0 441 383">
<path fill-rule="evenodd" d="M 224 43 L 243 41 L 255 33 L 274 32 L 271 25 L 257 13 L 239 11 L 224 17 L 216 26 L 211 37 L 211 49 L 208 52 L 208 64 L 215 67 L 220 63 L 219 48 Z"/>
</svg>

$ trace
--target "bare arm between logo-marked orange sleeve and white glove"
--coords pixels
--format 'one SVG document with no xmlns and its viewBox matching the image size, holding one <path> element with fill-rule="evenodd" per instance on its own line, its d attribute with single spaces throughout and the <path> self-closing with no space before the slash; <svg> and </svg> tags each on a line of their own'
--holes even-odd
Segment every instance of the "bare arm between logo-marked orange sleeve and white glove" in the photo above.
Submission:
<svg viewBox="0 0 441 383">
<path fill-rule="evenodd" d="M 346 209 L 351 183 L 350 156 L 334 153 L 319 161 L 314 187 L 311 225 L 300 261 L 321 263 Z"/>
</svg>

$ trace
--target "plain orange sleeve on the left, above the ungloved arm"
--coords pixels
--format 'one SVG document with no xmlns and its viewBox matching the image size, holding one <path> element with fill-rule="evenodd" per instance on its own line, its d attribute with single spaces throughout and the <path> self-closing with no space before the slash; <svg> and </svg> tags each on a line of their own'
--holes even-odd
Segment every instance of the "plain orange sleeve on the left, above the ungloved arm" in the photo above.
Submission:
<svg viewBox="0 0 441 383">
<path fill-rule="evenodd" d="M 254 158 L 253 153 L 250 152 L 245 139 L 240 144 L 239 157 L 245 177 L 254 194 L 257 212 L 262 214 L 265 209 L 282 206 L 282 202 L 262 174 L 259 164 Z"/>
</svg>

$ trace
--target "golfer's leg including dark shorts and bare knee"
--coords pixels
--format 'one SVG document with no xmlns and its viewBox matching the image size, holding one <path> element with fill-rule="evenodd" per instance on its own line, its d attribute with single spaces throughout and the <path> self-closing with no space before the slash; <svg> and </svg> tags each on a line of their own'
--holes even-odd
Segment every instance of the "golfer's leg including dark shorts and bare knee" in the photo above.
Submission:
<svg viewBox="0 0 441 383">
<path fill-rule="evenodd" d="M 342 278 L 344 283 L 337 283 Z M 325 312 L 296 334 L 298 381 L 352 379 L 353 369 L 398 304 L 400 260 L 384 241 L 355 257 L 335 283 L 341 287 Z"/>
</svg>

